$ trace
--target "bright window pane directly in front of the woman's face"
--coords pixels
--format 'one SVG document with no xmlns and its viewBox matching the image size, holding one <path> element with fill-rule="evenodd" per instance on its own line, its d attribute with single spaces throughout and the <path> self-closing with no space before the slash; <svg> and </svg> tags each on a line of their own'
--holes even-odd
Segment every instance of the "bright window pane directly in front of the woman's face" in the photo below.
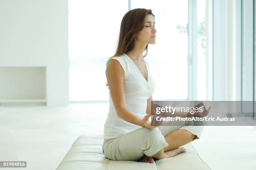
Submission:
<svg viewBox="0 0 256 170">
<path fill-rule="evenodd" d="M 132 0 L 131 9 L 151 9 L 156 16 L 156 44 L 148 45 L 151 75 L 156 83 L 154 100 L 188 98 L 188 1 Z"/>
</svg>

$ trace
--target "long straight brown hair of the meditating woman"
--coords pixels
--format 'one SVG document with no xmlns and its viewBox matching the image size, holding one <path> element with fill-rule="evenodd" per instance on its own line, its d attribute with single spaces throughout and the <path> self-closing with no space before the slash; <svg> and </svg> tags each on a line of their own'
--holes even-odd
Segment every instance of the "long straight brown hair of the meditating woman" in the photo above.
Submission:
<svg viewBox="0 0 256 170">
<path fill-rule="evenodd" d="M 135 34 L 143 29 L 143 22 L 146 18 L 146 15 L 149 14 L 153 15 L 155 18 L 152 10 L 147 10 L 145 8 L 136 8 L 130 10 L 123 16 L 120 25 L 117 49 L 115 51 L 115 55 L 113 55 L 112 57 L 117 57 L 123 55 L 124 53 L 126 54 L 133 49 L 135 44 Z M 146 55 L 148 54 L 148 45 L 146 46 L 145 50 L 146 54 L 143 57 L 146 57 Z M 106 66 L 108 65 L 108 62 L 112 57 L 108 59 Z M 106 83 L 106 86 L 108 86 L 108 83 Z"/>
</svg>

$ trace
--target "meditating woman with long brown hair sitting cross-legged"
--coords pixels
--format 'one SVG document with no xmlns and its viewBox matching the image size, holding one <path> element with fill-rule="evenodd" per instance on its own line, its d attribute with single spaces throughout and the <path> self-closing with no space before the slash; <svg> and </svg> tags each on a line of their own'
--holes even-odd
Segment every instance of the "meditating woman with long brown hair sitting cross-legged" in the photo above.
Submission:
<svg viewBox="0 0 256 170">
<path fill-rule="evenodd" d="M 199 139 L 202 133 L 200 126 L 153 126 L 148 120 L 155 83 L 143 52 L 147 54 L 148 44 L 155 43 L 155 15 L 151 10 L 138 8 L 124 15 L 118 48 L 105 72 L 110 107 L 102 150 L 110 160 L 154 163 L 154 158 L 186 152 L 179 146 Z"/>
</svg>

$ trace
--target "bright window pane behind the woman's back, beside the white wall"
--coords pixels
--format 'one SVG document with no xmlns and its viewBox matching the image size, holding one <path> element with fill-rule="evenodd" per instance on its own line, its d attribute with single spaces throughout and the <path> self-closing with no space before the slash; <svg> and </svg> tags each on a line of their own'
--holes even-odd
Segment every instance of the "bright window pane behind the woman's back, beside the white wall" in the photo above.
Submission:
<svg viewBox="0 0 256 170">
<path fill-rule="evenodd" d="M 120 23 L 127 11 L 127 1 L 69 0 L 71 101 L 108 100 L 105 63 L 115 53 Z"/>
</svg>

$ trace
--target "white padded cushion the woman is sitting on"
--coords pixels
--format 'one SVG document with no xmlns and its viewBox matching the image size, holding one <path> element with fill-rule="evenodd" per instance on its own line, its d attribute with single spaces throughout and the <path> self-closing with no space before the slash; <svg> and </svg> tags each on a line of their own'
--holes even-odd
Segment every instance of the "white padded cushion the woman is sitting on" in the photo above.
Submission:
<svg viewBox="0 0 256 170">
<path fill-rule="evenodd" d="M 102 153 L 102 144 L 102 135 L 79 136 L 57 170 L 210 170 L 191 143 L 182 146 L 186 148 L 186 153 L 155 163 L 109 160 Z"/>
</svg>

